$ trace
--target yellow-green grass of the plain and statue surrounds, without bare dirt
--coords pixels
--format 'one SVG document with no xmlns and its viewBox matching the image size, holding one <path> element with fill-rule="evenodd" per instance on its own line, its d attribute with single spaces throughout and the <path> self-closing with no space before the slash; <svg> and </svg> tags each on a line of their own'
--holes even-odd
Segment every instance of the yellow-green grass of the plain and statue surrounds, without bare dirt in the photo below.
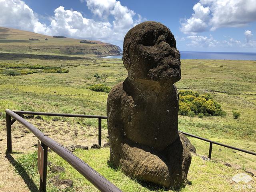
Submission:
<svg viewBox="0 0 256 192">
<path fill-rule="evenodd" d="M 57 54 L 40 56 L 36 54 L 0 53 L 0 55 L 1 120 L 5 118 L 4 110 L 6 108 L 106 116 L 108 94 L 94 92 L 88 87 L 93 84 L 104 84 L 112 87 L 118 82 L 122 82 L 127 76 L 122 60 L 118 59 L 64 54 L 61 56 Z M 213 99 L 221 104 L 227 115 L 204 118 L 179 116 L 179 130 L 255 151 L 256 61 L 182 60 L 181 63 L 182 79 L 176 83 L 178 90 L 194 90 L 200 94 L 210 93 Z M 12 68 L 9 70 L 22 70 L 15 68 L 15 66 L 33 66 L 36 64 L 57 66 L 67 69 L 69 72 L 64 74 L 38 72 L 19 76 L 1 74 L 10 66 Z M 96 73 L 98 74 L 97 77 L 95 77 Z M 234 119 L 233 111 L 240 112 L 241 116 Z M 51 117 L 43 118 L 46 121 L 53 119 Z M 74 125 L 79 121 L 82 126 L 97 127 L 97 122 L 90 119 L 58 119 Z M 103 121 L 103 129 L 107 129 L 106 121 Z M 4 126 L 0 126 L 0 130 L 4 130 Z M 208 154 L 208 143 L 194 138 L 190 138 L 190 141 L 196 146 L 198 154 Z M 139 188 L 138 191 L 153 190 L 146 188 L 144 184 L 138 184 L 135 180 L 130 180 L 120 171 L 109 168 L 106 164 L 108 153 L 106 149 L 102 149 L 100 152 L 95 150 L 76 151 L 80 158 L 124 191 L 133 191 L 128 190 L 127 187 Z M 97 156 L 102 158 L 96 161 Z M 81 176 L 69 168 L 63 160 L 57 158 L 54 153 L 50 154 L 50 160 L 66 167 L 68 173 L 63 177 L 74 177 L 77 188 L 95 191 L 95 188 L 86 180 L 80 180 Z M 256 169 L 255 156 L 242 152 L 235 153 L 234 150 L 213 145 L 212 161 L 204 162 L 198 157 L 193 157 L 188 175 L 192 185 L 182 188 L 181 191 L 231 191 L 230 178 L 238 171 L 214 162 L 216 160 L 233 162 L 241 165 L 244 169 Z M 212 175 L 214 175 L 213 178 Z M 223 177 L 227 179 L 222 180 Z M 212 179 L 215 179 L 216 185 L 209 182 Z M 227 181 L 229 183 L 225 183 Z M 159 190 L 159 188 L 154 190 Z"/>
</svg>

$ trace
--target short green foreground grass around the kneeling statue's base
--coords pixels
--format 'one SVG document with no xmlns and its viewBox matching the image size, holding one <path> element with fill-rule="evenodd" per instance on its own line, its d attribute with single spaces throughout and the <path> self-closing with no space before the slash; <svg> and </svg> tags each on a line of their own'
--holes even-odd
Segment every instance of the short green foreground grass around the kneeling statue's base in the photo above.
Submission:
<svg viewBox="0 0 256 192">
<path fill-rule="evenodd" d="M 77 149 L 74 154 L 124 192 L 172 191 L 164 189 L 161 186 L 136 180 L 136 178 L 129 178 L 121 170 L 111 168 L 108 164 L 109 148 L 102 148 L 99 150 Z M 48 160 L 54 165 L 63 166 L 66 169 L 65 173 L 60 174 L 61 179 L 71 178 L 74 181 L 74 186 L 68 191 L 98 191 L 96 187 L 94 187 L 79 172 L 54 152 L 48 154 Z M 38 185 L 39 174 L 36 170 L 36 152 L 21 156 L 18 159 L 18 163 L 25 168 L 34 180 L 35 184 Z M 234 184 L 230 182 L 230 179 L 240 172 L 242 172 L 242 170 L 235 170 L 233 168 L 226 167 L 221 163 L 215 161 L 204 161 L 200 157 L 193 156 L 188 173 L 188 181 L 190 184 L 180 188 L 180 192 L 235 191 L 233 190 Z M 48 181 L 55 175 L 56 173 L 53 174 L 48 169 Z M 214 181 L 214 184 L 209 181 Z M 252 183 L 252 186 L 255 187 L 255 183 Z M 47 187 L 49 191 L 56 190 L 56 188 L 54 188 L 49 182 Z"/>
</svg>

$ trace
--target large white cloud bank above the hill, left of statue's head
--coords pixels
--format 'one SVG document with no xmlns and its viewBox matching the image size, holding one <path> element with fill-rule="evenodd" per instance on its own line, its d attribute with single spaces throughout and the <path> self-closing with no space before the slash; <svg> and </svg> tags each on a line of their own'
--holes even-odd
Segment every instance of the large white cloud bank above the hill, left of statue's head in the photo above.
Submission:
<svg viewBox="0 0 256 192">
<path fill-rule="evenodd" d="M 37 15 L 22 0 L 0 0 L 0 26 L 29 30 L 47 35 L 63 35 L 74 38 L 105 40 L 122 44 L 126 32 L 144 21 L 139 14 L 122 6 L 117 0 L 81 0 L 98 17 L 84 18 L 75 10 L 59 6 L 50 17 L 50 25 L 39 22 Z M 114 20 L 109 20 L 114 18 Z M 119 42 L 118 42 L 119 41 Z"/>
</svg>

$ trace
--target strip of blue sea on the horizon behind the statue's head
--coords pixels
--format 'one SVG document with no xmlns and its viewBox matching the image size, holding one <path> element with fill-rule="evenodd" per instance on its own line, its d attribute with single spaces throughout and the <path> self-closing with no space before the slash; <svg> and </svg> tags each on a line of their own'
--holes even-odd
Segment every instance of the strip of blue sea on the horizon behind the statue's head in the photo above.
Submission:
<svg viewBox="0 0 256 192">
<path fill-rule="evenodd" d="M 256 60 L 256 53 L 180 51 L 180 57 L 181 59 Z M 122 55 L 106 56 L 104 58 L 122 59 Z"/>
</svg>

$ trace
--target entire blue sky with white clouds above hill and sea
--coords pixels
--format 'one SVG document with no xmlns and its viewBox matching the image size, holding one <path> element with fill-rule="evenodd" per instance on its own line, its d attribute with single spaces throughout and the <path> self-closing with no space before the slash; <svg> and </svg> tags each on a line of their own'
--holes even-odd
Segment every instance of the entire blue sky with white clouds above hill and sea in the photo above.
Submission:
<svg viewBox="0 0 256 192">
<path fill-rule="evenodd" d="M 133 26 L 154 20 L 180 51 L 256 52 L 256 0 L 0 0 L 0 26 L 100 40 L 122 48 Z"/>
</svg>

